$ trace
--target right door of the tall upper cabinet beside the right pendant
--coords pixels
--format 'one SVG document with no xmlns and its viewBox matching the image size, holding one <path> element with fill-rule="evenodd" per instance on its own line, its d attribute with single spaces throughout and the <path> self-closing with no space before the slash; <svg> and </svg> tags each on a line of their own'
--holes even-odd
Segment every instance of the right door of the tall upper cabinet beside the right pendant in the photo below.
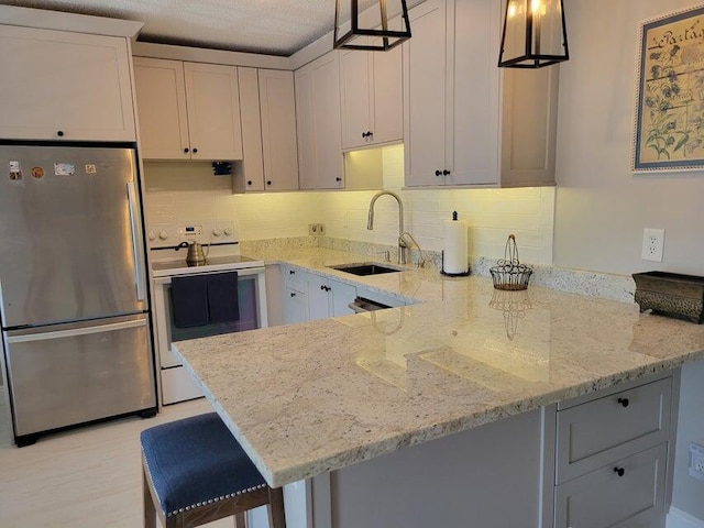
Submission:
<svg viewBox="0 0 704 528">
<path fill-rule="evenodd" d="M 501 2 L 457 1 L 453 20 L 454 147 L 444 184 L 497 184 Z"/>
</svg>

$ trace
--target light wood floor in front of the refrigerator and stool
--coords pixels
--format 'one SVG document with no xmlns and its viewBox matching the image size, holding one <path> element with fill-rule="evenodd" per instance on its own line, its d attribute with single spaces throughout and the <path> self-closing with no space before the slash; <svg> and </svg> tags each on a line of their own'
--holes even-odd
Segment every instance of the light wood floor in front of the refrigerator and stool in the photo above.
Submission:
<svg viewBox="0 0 704 528">
<path fill-rule="evenodd" d="M 0 427 L 0 527 L 141 527 L 140 431 L 210 410 L 205 399 L 185 402 L 152 419 L 47 436 L 22 449 L 9 446 Z M 208 526 L 232 528 L 234 522 Z"/>
</svg>

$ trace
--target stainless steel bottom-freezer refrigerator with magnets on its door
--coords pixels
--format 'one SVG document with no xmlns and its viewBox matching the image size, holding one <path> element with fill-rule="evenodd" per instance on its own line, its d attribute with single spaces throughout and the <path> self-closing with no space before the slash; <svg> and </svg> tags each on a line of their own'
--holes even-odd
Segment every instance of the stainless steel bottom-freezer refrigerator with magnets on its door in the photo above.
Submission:
<svg viewBox="0 0 704 528">
<path fill-rule="evenodd" d="M 156 410 L 135 152 L 0 145 L 0 309 L 14 439 Z"/>
</svg>

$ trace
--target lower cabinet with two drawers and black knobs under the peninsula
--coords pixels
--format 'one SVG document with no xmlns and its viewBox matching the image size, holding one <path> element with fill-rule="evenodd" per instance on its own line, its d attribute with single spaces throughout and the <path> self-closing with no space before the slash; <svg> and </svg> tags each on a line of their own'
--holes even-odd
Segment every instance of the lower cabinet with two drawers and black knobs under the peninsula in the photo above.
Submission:
<svg viewBox="0 0 704 528">
<path fill-rule="evenodd" d="M 556 528 L 663 528 L 672 449 L 672 375 L 561 403 Z"/>
</svg>

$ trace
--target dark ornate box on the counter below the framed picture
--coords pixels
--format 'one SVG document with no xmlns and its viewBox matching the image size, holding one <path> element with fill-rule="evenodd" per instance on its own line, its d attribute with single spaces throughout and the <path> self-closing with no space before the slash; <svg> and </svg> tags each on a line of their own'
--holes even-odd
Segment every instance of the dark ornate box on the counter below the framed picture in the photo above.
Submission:
<svg viewBox="0 0 704 528">
<path fill-rule="evenodd" d="M 667 272 L 634 273 L 640 311 L 704 322 L 704 277 Z"/>
</svg>

